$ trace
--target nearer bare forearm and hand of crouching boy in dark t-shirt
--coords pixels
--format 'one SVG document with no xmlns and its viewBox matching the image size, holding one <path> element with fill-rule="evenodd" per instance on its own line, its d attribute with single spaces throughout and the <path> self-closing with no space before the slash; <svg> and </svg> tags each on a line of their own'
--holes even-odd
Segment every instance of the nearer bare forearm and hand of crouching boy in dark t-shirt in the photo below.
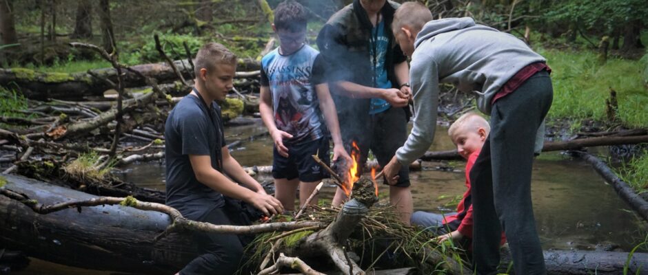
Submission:
<svg viewBox="0 0 648 275">
<path fill-rule="evenodd" d="M 213 190 L 216 190 L 216 192 L 220 192 L 227 197 L 241 199 L 242 201 L 250 203 L 255 208 L 263 211 L 266 215 L 281 214 L 281 212 L 283 212 L 281 202 L 274 199 L 274 197 L 263 195 L 243 186 L 239 186 L 239 184 L 235 184 L 218 170 L 212 168 L 212 162 L 209 155 L 189 155 L 189 160 L 192 169 L 194 170 L 194 174 L 196 175 L 196 179 L 198 179 L 202 184 L 205 184 L 205 186 L 212 188 Z"/>
</svg>

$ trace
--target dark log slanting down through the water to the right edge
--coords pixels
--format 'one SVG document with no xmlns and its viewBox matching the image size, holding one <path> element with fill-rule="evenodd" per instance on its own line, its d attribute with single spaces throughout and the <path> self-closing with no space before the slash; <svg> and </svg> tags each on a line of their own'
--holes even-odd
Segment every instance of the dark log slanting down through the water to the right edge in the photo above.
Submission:
<svg viewBox="0 0 648 275">
<path fill-rule="evenodd" d="M 634 189 L 628 186 L 625 181 L 617 177 L 616 174 L 607 166 L 607 164 L 605 164 L 605 162 L 598 159 L 598 157 L 594 157 L 594 155 L 590 155 L 589 153 L 581 151 L 573 151 L 571 153 L 582 158 L 583 160 L 585 160 L 585 162 L 591 164 L 591 166 L 594 167 L 594 170 L 596 170 L 596 173 L 598 173 L 598 175 L 603 177 L 605 181 L 607 181 L 612 185 L 612 187 L 614 187 L 614 190 L 616 190 L 616 193 L 619 195 L 619 197 L 621 197 L 623 201 L 628 203 L 629 206 L 635 212 L 637 212 L 640 217 L 642 217 L 645 221 L 648 221 L 648 201 L 645 201 L 645 199 L 637 195 Z M 648 263 L 648 261 L 646 263 Z"/>
</svg>

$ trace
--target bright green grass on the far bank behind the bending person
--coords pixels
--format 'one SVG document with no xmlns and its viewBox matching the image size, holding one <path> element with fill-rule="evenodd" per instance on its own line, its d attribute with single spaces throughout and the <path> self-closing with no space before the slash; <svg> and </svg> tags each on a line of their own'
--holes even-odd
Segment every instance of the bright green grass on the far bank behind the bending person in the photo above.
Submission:
<svg viewBox="0 0 648 275">
<path fill-rule="evenodd" d="M 648 126 L 648 93 L 642 78 L 641 61 L 610 58 L 598 64 L 591 51 L 540 49 L 553 69 L 554 103 L 550 118 L 607 120 L 605 99 L 609 89 L 617 91 L 618 118 L 630 128 Z"/>
</svg>

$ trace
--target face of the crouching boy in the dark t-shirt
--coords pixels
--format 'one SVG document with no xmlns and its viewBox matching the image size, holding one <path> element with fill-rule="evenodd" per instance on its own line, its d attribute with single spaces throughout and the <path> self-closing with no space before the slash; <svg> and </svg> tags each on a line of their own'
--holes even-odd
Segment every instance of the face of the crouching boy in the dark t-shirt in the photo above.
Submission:
<svg viewBox="0 0 648 275">
<path fill-rule="evenodd" d="M 201 69 L 201 79 L 205 81 L 205 89 L 214 99 L 225 100 L 227 93 L 234 87 L 232 80 L 236 74 L 236 64 L 218 63 L 212 72 Z"/>
</svg>

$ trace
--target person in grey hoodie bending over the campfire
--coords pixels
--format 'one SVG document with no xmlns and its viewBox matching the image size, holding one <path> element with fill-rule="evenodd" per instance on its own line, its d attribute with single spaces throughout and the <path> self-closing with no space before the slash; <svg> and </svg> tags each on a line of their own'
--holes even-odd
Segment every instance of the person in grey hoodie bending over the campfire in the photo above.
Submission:
<svg viewBox="0 0 648 275">
<path fill-rule="evenodd" d="M 504 230 L 515 273 L 545 274 L 531 205 L 534 140 L 553 98 L 545 58 L 515 36 L 471 18 L 432 20 L 429 9 L 416 2 L 396 10 L 392 30 L 412 57 L 415 118 L 407 141 L 383 169 L 385 177 L 394 181 L 402 164 L 423 155 L 432 143 L 439 83 L 474 92 L 492 126 L 470 173 L 474 268 L 477 274 L 496 274 L 498 236 Z"/>
</svg>

